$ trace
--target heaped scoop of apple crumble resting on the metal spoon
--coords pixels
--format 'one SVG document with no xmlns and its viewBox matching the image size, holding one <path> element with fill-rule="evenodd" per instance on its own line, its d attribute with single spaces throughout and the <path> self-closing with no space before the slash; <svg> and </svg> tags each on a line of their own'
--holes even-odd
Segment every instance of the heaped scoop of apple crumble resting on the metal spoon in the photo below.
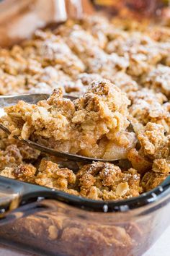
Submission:
<svg viewBox="0 0 170 256">
<path fill-rule="evenodd" d="M 34 137 L 57 150 L 96 158 L 126 158 L 135 145 L 128 132 L 130 101 L 108 80 L 91 82 L 75 101 L 55 90 L 47 101 L 37 105 L 19 101 L 8 107 L 4 125 L 23 139 Z"/>
</svg>

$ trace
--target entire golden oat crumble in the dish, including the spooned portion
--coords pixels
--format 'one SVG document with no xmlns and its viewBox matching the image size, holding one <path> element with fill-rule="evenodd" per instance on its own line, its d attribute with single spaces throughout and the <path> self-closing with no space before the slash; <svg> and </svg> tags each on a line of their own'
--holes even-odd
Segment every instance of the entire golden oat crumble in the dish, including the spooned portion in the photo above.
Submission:
<svg viewBox="0 0 170 256">
<path fill-rule="evenodd" d="M 161 184 L 170 172 L 169 35 L 169 27 L 140 30 L 94 16 L 1 48 L 0 94 L 50 98 L 5 108 L 1 122 L 12 136 L 0 132 L 0 174 L 94 200 L 136 197 Z M 124 164 L 80 163 L 75 172 L 14 135 Z"/>
</svg>

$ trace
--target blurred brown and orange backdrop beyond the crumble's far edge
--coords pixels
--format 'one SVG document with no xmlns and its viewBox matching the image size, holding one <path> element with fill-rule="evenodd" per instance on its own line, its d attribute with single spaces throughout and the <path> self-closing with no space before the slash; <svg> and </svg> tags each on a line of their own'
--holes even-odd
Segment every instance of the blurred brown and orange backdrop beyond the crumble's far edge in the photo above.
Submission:
<svg viewBox="0 0 170 256">
<path fill-rule="evenodd" d="M 154 19 L 170 25 L 169 0 L 0 0 L 0 46 L 12 46 L 37 29 L 84 13 Z"/>
</svg>

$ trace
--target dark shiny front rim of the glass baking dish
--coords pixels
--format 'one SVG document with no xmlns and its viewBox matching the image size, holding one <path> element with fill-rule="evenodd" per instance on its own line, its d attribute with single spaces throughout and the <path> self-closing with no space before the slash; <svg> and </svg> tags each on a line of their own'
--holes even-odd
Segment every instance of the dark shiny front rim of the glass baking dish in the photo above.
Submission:
<svg viewBox="0 0 170 256">
<path fill-rule="evenodd" d="M 6 186 L 7 189 L 16 189 L 16 187 L 19 186 L 22 187 L 22 195 L 19 195 L 19 205 L 17 205 L 16 209 L 19 209 L 19 207 L 22 207 L 23 205 L 28 205 L 31 202 L 40 202 L 47 199 L 63 202 L 66 205 L 71 205 L 74 208 L 79 208 L 89 212 L 122 213 L 128 212 L 130 210 L 140 209 L 146 205 L 153 205 L 153 202 L 156 202 L 156 205 L 158 205 L 158 202 L 160 202 L 161 199 L 167 195 L 170 197 L 170 176 L 168 176 L 158 187 L 146 193 L 144 192 L 138 197 L 131 197 L 125 200 L 108 201 L 91 200 L 86 197 L 71 195 L 61 190 L 50 189 L 36 184 L 21 182 L 16 179 L 6 178 L 4 176 L 0 176 L 0 184 Z M 10 203 L 11 202 L 4 202 L 2 206 L 0 205 L 0 213 L 2 210 L 5 210 L 5 213 L 8 213 L 8 210 L 10 209 Z"/>
</svg>

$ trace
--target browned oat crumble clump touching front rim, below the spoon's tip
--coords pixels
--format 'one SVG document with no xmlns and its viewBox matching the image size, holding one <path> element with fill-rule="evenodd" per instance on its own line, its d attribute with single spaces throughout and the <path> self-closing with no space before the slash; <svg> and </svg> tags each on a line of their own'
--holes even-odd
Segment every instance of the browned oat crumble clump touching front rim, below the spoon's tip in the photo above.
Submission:
<svg viewBox="0 0 170 256">
<path fill-rule="evenodd" d="M 77 174 L 80 195 L 95 200 L 125 199 L 140 193 L 140 175 L 133 168 L 122 172 L 111 163 L 94 162 Z"/>
</svg>

